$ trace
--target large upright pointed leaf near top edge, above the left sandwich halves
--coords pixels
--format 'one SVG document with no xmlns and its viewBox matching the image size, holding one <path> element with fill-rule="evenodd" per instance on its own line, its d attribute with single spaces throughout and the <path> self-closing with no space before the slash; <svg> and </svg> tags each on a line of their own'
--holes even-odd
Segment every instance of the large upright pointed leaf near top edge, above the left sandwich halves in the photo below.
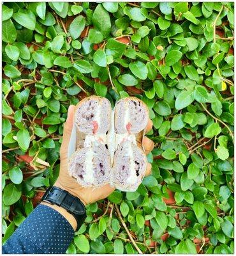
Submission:
<svg viewBox="0 0 236 256">
<path fill-rule="evenodd" d="M 92 14 L 92 23 L 94 24 L 94 28 L 98 29 L 104 38 L 110 34 L 111 23 L 110 23 L 110 16 L 103 8 L 102 4 L 98 4 L 94 13 Z"/>
</svg>

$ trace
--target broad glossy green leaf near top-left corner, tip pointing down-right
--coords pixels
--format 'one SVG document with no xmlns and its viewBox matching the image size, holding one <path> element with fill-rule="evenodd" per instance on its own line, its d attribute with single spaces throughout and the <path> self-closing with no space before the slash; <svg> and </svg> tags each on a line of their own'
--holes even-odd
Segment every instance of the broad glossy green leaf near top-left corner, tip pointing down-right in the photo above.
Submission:
<svg viewBox="0 0 236 256">
<path fill-rule="evenodd" d="M 31 10 L 19 9 L 18 12 L 13 14 L 13 19 L 24 28 L 35 29 L 36 17 Z"/>
</svg>

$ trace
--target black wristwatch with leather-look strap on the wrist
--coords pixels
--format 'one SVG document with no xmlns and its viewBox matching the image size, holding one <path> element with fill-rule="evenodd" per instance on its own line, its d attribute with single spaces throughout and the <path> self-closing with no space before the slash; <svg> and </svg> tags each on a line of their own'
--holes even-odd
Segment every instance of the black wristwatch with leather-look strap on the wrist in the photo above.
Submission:
<svg viewBox="0 0 236 256">
<path fill-rule="evenodd" d="M 86 218 L 85 206 L 78 197 L 71 195 L 68 191 L 52 186 L 47 189 L 41 201 L 59 205 L 70 212 L 77 220 L 77 230 L 84 223 Z"/>
</svg>

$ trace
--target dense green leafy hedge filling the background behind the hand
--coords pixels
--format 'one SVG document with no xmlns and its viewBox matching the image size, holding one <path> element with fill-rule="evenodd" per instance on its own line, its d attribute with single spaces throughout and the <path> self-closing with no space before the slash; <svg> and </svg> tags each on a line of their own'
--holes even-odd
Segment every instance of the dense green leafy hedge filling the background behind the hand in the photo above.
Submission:
<svg viewBox="0 0 236 256">
<path fill-rule="evenodd" d="M 233 3 L 4 3 L 3 241 L 59 172 L 86 95 L 150 109 L 152 175 L 87 207 L 68 253 L 233 253 Z"/>
</svg>

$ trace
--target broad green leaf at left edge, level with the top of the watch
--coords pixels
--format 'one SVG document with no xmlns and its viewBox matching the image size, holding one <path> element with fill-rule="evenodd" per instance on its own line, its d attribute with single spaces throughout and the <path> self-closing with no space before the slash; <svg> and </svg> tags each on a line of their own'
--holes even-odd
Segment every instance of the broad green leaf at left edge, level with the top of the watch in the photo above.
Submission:
<svg viewBox="0 0 236 256">
<path fill-rule="evenodd" d="M 14 184 L 8 184 L 3 190 L 4 205 L 13 205 L 21 197 L 21 191 Z"/>
</svg>

